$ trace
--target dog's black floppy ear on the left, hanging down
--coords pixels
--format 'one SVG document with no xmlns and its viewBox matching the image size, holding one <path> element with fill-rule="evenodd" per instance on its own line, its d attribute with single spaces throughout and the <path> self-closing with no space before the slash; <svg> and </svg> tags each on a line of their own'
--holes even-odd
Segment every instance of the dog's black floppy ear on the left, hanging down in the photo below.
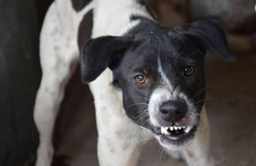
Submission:
<svg viewBox="0 0 256 166">
<path fill-rule="evenodd" d="M 94 81 L 107 67 L 113 70 L 131 41 L 131 36 L 104 36 L 90 39 L 82 51 L 82 81 L 84 83 Z"/>
</svg>

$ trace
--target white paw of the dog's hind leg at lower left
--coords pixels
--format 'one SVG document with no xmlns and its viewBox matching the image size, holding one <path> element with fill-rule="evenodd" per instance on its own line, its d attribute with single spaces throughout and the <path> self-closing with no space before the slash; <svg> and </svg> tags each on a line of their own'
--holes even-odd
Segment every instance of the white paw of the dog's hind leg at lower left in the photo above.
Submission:
<svg viewBox="0 0 256 166">
<path fill-rule="evenodd" d="M 51 166 L 54 150 L 50 144 L 41 144 L 37 149 L 37 159 L 35 166 Z"/>
</svg>

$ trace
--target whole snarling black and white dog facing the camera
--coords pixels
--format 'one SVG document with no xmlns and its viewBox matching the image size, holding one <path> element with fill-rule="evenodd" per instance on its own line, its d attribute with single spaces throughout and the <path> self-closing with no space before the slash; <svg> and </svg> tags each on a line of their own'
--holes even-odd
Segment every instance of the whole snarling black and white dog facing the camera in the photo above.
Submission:
<svg viewBox="0 0 256 166">
<path fill-rule="evenodd" d="M 101 166 L 135 166 L 153 137 L 190 166 L 213 166 L 203 104 L 207 49 L 236 60 L 213 19 L 170 30 L 142 0 L 55 0 L 41 32 L 36 166 L 51 164 L 54 121 L 79 55 L 95 99 Z"/>
</svg>

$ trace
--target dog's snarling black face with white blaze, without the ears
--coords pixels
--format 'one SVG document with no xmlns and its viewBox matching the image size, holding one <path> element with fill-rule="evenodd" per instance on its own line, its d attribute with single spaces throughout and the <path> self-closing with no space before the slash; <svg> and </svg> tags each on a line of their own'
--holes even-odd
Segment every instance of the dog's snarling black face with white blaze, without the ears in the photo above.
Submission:
<svg viewBox="0 0 256 166">
<path fill-rule="evenodd" d="M 114 70 L 126 114 L 171 149 L 193 133 L 205 97 L 204 55 L 175 32 L 140 37 Z"/>
</svg>

